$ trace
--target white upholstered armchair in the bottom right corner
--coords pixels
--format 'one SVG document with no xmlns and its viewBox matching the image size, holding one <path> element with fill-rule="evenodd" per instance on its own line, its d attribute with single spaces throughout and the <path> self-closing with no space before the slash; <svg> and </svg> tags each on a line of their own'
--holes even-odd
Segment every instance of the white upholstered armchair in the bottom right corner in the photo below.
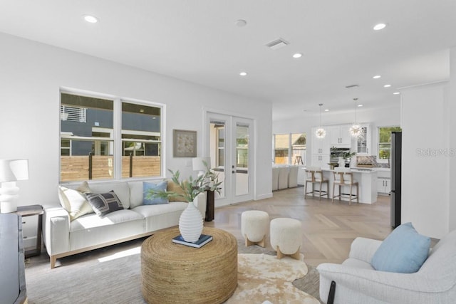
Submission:
<svg viewBox="0 0 456 304">
<path fill-rule="evenodd" d="M 357 238 L 342 264 L 323 263 L 320 298 L 323 303 L 456 303 L 456 230 L 430 251 L 416 273 L 375 271 L 372 257 L 381 241 Z M 333 301 L 329 296 L 335 282 Z"/>
</svg>

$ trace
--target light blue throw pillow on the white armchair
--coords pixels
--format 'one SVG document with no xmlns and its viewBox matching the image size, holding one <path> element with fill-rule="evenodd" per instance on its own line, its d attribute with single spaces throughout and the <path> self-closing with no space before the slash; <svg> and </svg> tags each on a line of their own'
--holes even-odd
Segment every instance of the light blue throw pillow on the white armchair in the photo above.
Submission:
<svg viewBox="0 0 456 304">
<path fill-rule="evenodd" d="M 378 271 L 415 273 L 429 254 L 430 238 L 422 236 L 412 223 L 398 226 L 375 251 L 371 265 Z"/>
</svg>

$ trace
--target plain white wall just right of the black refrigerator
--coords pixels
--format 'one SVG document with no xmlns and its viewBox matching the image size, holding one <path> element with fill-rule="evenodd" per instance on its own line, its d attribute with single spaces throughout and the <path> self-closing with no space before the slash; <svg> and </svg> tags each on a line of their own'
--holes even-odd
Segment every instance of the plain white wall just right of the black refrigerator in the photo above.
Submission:
<svg viewBox="0 0 456 304">
<path fill-rule="evenodd" d="M 448 232 L 447 83 L 402 90 L 402 219 L 440 239 Z"/>
</svg>

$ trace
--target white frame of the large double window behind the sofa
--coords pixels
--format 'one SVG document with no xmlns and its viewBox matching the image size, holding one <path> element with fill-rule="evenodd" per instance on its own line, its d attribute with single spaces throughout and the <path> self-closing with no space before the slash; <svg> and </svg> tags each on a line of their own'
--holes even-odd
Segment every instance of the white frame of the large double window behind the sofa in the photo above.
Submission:
<svg viewBox="0 0 456 304">
<path fill-rule="evenodd" d="M 112 142 L 113 142 L 113 162 L 114 162 L 114 170 L 113 170 L 113 178 L 112 179 L 91 179 L 93 182 L 115 182 L 115 181 L 125 181 L 125 180 L 144 180 L 144 179 L 162 179 L 165 177 L 165 155 L 166 155 L 166 130 L 165 130 L 165 116 L 166 116 L 166 105 L 162 103 L 155 103 L 147 100 L 137 100 L 134 98 L 123 98 L 120 96 L 108 95 L 103 93 L 93 93 L 84 90 L 77 90 L 77 89 L 70 89 L 70 88 L 61 88 L 59 91 L 59 135 L 58 135 L 58 151 L 59 151 L 59 161 L 58 161 L 58 172 L 59 172 L 59 183 L 61 184 L 77 184 L 81 182 L 81 180 L 61 180 L 61 152 L 62 150 L 68 149 L 68 147 L 62 147 L 62 134 L 66 132 L 61 131 L 61 96 L 62 94 L 70 94 L 70 95 L 78 95 L 87 98 L 101 98 L 113 101 L 113 129 L 111 132 L 113 133 Z M 145 107 L 152 107 L 152 108 L 160 108 L 160 140 L 154 140 L 157 145 L 159 145 L 159 156 L 160 156 L 160 175 L 154 176 L 145 176 L 145 177 L 122 177 L 122 158 L 123 158 L 123 142 L 125 140 L 122 138 L 122 103 L 131 103 L 135 105 L 144 105 Z M 138 131 L 141 132 L 141 131 Z M 98 139 L 98 137 L 93 137 L 94 139 Z M 105 140 L 111 140 L 108 137 L 104 138 Z M 140 140 L 141 141 L 141 140 Z M 147 140 L 147 142 L 150 142 Z M 71 151 L 71 141 L 70 141 L 70 151 Z M 71 152 L 70 152 L 71 154 Z"/>
</svg>

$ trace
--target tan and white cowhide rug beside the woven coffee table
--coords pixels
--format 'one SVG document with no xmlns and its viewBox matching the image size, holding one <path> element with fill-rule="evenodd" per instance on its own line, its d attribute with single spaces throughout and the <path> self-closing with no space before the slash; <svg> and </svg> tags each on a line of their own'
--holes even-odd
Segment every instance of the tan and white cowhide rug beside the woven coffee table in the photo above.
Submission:
<svg viewBox="0 0 456 304">
<path fill-rule="evenodd" d="M 301 259 L 303 256 L 301 255 Z M 295 288 L 292 282 L 307 274 L 304 261 L 267 254 L 238 255 L 237 288 L 227 304 L 319 304 L 316 298 Z"/>
</svg>

